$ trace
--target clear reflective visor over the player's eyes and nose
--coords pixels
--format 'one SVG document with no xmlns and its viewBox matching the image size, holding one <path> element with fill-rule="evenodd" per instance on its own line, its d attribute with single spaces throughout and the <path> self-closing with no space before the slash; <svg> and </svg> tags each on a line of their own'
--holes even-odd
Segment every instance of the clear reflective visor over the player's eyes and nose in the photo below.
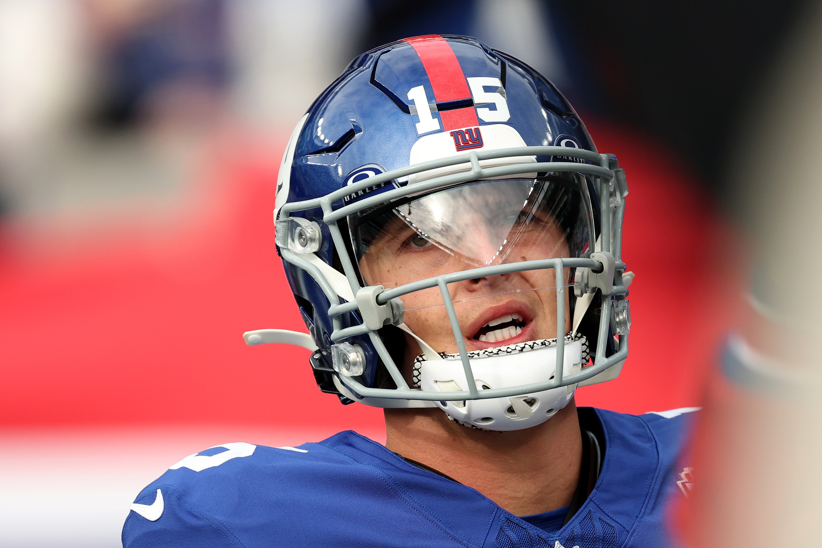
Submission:
<svg viewBox="0 0 822 548">
<path fill-rule="evenodd" d="M 584 177 L 563 173 L 483 180 L 412 196 L 350 216 L 349 228 L 363 281 L 397 288 L 483 266 L 582 256 L 589 248 L 593 216 Z M 556 292 L 552 270 L 449 287 L 455 304 L 543 290 Z M 402 298 L 406 311 L 443 305 L 438 288 Z"/>
</svg>

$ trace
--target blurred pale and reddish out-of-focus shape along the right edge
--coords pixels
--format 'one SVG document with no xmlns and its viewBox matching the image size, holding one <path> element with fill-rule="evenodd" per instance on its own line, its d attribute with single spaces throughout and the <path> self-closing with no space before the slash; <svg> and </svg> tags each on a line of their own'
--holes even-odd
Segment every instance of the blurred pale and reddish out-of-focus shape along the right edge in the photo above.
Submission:
<svg viewBox="0 0 822 548">
<path fill-rule="evenodd" d="M 763 76 L 729 163 L 750 288 L 706 389 L 685 546 L 819 542 L 822 5 Z"/>
</svg>

